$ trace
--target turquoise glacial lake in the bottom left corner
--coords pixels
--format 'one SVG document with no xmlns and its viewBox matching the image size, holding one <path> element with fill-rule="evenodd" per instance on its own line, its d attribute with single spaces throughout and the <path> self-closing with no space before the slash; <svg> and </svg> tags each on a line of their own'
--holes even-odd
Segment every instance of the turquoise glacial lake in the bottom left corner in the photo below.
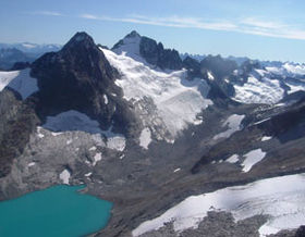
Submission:
<svg viewBox="0 0 305 237">
<path fill-rule="evenodd" d="M 0 236 L 77 237 L 105 227 L 112 203 L 59 185 L 0 202 Z"/>
</svg>

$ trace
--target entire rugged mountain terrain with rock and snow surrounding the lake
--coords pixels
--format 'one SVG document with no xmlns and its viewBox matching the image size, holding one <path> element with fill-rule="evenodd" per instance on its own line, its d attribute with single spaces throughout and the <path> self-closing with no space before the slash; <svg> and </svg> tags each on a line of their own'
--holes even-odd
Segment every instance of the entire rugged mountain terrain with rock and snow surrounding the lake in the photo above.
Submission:
<svg viewBox="0 0 305 237">
<path fill-rule="evenodd" d="M 304 83 L 301 64 L 76 33 L 0 72 L 0 200 L 84 184 L 113 203 L 95 236 L 298 235 Z"/>
</svg>

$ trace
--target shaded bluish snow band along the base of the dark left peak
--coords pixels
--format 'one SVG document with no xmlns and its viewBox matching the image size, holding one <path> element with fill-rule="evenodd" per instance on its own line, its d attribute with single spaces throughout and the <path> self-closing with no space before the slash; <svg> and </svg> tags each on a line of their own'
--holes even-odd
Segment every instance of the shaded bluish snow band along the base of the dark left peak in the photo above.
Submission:
<svg viewBox="0 0 305 237">
<path fill-rule="evenodd" d="M 47 116 L 46 123 L 42 127 L 50 130 L 83 130 L 93 134 L 93 138 L 102 144 L 103 135 L 107 139 L 107 147 L 123 151 L 125 149 L 125 137 L 121 134 L 112 133 L 112 126 L 108 130 L 101 130 L 97 121 L 91 120 L 86 114 L 75 110 L 65 111 L 56 116 Z M 53 136 L 57 136 L 54 133 Z"/>
</svg>

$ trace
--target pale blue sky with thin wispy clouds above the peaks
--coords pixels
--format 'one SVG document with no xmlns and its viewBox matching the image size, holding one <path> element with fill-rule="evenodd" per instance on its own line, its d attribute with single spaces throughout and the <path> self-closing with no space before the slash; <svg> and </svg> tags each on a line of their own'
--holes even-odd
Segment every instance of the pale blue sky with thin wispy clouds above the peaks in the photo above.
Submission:
<svg viewBox="0 0 305 237">
<path fill-rule="evenodd" d="M 1 0 L 0 42 L 113 46 L 135 29 L 180 52 L 305 62 L 304 0 Z"/>
</svg>

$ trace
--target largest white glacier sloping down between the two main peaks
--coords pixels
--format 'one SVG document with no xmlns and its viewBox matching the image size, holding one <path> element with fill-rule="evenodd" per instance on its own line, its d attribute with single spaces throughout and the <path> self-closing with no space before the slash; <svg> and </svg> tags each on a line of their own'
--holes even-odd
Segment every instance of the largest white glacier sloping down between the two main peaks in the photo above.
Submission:
<svg viewBox="0 0 305 237">
<path fill-rule="evenodd" d="M 186 71 L 157 71 L 142 62 L 101 49 L 112 66 L 122 74 L 115 84 L 123 89 L 124 99 L 139 101 L 149 98 L 156 104 L 156 113 L 168 132 L 175 137 L 188 124 L 197 122 L 196 115 L 212 104 L 206 99 L 209 86 L 205 80 L 186 79 Z"/>
</svg>

